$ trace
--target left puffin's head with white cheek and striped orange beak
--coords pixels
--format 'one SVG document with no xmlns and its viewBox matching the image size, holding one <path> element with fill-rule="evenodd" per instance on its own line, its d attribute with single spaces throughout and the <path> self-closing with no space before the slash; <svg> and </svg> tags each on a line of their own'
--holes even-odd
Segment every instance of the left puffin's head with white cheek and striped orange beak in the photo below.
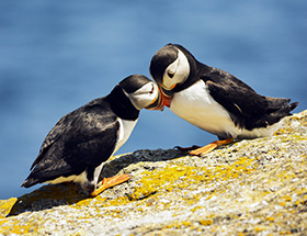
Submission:
<svg viewBox="0 0 307 236">
<path fill-rule="evenodd" d="M 118 86 L 124 90 L 137 110 L 163 111 L 163 101 L 158 86 L 143 75 L 133 75 L 122 80 Z"/>
</svg>

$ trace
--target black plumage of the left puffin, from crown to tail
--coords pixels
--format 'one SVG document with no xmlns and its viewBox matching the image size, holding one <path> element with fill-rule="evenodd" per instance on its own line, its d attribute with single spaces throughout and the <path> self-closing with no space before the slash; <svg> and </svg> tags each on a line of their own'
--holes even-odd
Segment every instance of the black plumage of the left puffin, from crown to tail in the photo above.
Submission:
<svg viewBox="0 0 307 236">
<path fill-rule="evenodd" d="M 134 106 L 128 93 L 148 82 L 151 81 L 141 75 L 127 77 L 109 95 L 95 99 L 61 117 L 46 136 L 31 167 L 32 172 L 22 187 L 84 172 L 82 187 L 89 192 L 94 191 L 95 169 L 116 148 L 120 120 L 136 122 L 138 119 L 139 110 Z"/>
</svg>

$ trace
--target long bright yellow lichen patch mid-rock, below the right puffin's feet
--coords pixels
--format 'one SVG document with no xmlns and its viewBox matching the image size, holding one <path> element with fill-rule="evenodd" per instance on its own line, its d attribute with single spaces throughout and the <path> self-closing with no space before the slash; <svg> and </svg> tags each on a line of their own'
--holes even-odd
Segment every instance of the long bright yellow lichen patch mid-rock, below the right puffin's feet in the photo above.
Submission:
<svg viewBox="0 0 307 236">
<path fill-rule="evenodd" d="M 242 175 L 250 175 L 255 169 L 257 164 L 254 159 L 240 157 L 234 164 L 220 165 L 211 169 L 207 167 L 182 167 L 173 164 L 152 171 L 145 170 L 141 173 L 143 178 L 137 182 L 138 187 L 135 188 L 135 192 L 129 195 L 129 200 L 141 200 L 159 191 L 171 192 L 180 189 L 189 189 L 190 184 L 212 187 L 216 181 L 236 179 Z M 207 199 L 209 198 L 208 195 Z M 194 198 L 193 201 L 195 202 L 198 199 L 200 196 Z"/>
</svg>

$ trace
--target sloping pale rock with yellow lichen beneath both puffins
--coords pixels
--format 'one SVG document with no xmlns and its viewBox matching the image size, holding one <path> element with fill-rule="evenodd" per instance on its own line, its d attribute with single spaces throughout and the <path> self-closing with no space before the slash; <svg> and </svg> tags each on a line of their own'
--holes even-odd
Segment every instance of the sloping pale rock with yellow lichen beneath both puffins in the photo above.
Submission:
<svg viewBox="0 0 307 236">
<path fill-rule="evenodd" d="M 2 235 L 305 235 L 307 111 L 273 137 L 241 141 L 205 157 L 174 149 L 115 156 L 102 176 L 128 182 L 86 198 L 45 186 L 0 201 Z"/>
</svg>

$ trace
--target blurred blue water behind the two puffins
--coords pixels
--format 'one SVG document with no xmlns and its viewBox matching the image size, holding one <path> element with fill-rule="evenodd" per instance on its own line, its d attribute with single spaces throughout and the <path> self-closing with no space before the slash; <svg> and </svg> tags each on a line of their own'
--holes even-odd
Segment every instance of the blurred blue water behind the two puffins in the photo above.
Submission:
<svg viewBox="0 0 307 236">
<path fill-rule="evenodd" d="M 19 196 L 42 142 L 66 113 L 107 94 L 179 43 L 258 92 L 307 109 L 307 2 L 0 0 L 0 199 Z M 117 154 L 216 137 L 168 109 L 143 111 Z"/>
</svg>

